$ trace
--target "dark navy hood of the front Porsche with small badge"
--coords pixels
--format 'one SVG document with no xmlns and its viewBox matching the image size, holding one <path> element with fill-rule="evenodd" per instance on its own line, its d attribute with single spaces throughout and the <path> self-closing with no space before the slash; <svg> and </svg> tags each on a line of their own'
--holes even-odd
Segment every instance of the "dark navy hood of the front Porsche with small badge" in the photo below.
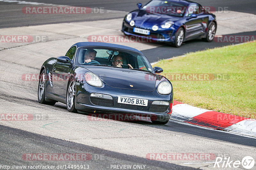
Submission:
<svg viewBox="0 0 256 170">
<path fill-rule="evenodd" d="M 108 86 L 121 89 L 154 91 L 156 74 L 121 68 L 87 68 L 100 77 Z M 150 79 L 148 78 L 150 77 Z M 131 87 L 132 86 L 132 87 Z"/>
</svg>

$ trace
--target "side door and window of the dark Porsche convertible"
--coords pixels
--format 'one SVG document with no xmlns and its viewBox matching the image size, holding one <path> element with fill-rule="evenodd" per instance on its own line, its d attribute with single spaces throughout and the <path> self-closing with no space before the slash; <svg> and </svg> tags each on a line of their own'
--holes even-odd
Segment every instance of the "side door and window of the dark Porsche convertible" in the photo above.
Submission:
<svg viewBox="0 0 256 170">
<path fill-rule="evenodd" d="M 73 60 L 76 53 L 76 46 L 72 46 L 65 56 Z M 66 98 L 67 93 L 67 79 L 70 69 L 73 67 L 71 62 L 58 61 L 52 68 L 52 87 L 56 95 Z"/>
</svg>

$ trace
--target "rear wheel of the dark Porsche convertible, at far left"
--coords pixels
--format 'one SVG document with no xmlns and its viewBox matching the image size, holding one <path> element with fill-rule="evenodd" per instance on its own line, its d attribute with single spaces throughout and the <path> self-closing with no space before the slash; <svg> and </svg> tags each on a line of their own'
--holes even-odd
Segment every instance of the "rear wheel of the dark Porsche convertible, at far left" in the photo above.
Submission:
<svg viewBox="0 0 256 170">
<path fill-rule="evenodd" d="M 38 102 L 41 104 L 48 104 L 48 105 L 54 105 L 56 102 L 47 102 L 45 101 L 45 84 L 46 84 L 46 73 L 45 70 L 43 70 L 40 73 L 39 82 L 38 82 L 38 89 L 37 89 L 37 99 Z"/>
</svg>

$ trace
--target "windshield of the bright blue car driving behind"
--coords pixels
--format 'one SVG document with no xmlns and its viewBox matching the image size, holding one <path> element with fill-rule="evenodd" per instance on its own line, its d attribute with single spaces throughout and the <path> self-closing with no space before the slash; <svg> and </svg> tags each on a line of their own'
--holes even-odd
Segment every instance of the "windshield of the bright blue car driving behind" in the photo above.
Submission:
<svg viewBox="0 0 256 170">
<path fill-rule="evenodd" d="M 146 10 L 148 13 L 159 13 L 177 17 L 183 17 L 186 9 L 187 6 L 183 4 L 163 0 L 152 0 L 142 8 L 142 10 Z"/>
</svg>

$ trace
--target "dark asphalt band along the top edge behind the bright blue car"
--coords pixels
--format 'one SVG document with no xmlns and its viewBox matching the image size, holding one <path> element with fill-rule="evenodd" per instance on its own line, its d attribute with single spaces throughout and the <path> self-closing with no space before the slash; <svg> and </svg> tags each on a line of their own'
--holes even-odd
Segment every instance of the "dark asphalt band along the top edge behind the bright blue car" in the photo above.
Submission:
<svg viewBox="0 0 256 170">
<path fill-rule="evenodd" d="M 4 1 L 4 0 L 2 0 Z M 6 27 L 17 27 L 17 26 L 28 26 L 28 25 L 42 25 L 42 24 L 53 24 L 62 22 L 78 22 L 78 21 L 95 21 L 102 19 L 113 19 L 113 18 L 123 18 L 125 14 L 129 11 L 137 9 L 137 3 L 146 4 L 148 0 L 94 0 L 94 1 L 83 1 L 83 0 L 64 0 L 64 1 L 51 1 L 51 0 L 28 0 L 26 2 L 37 2 L 45 4 L 56 4 L 56 5 L 67 5 L 67 6 L 80 6 L 80 7 L 90 7 L 105 10 L 117 10 L 125 12 L 110 12 L 107 15 L 105 13 L 99 13 L 97 11 L 92 11 L 91 14 L 56 14 L 54 16 L 47 14 L 23 14 L 21 9 L 27 6 L 35 6 L 31 4 L 18 4 L 17 2 L 6 3 L 0 1 L 0 28 Z M 256 14 L 255 0 L 195 0 L 202 4 L 203 6 L 214 7 L 216 11 L 221 11 L 222 9 L 227 9 L 229 11 L 238 11 L 245 13 Z M 45 6 L 45 5 L 36 5 Z M 55 5 L 53 5 L 55 6 Z M 121 27 L 121 24 L 120 24 Z"/>
</svg>

